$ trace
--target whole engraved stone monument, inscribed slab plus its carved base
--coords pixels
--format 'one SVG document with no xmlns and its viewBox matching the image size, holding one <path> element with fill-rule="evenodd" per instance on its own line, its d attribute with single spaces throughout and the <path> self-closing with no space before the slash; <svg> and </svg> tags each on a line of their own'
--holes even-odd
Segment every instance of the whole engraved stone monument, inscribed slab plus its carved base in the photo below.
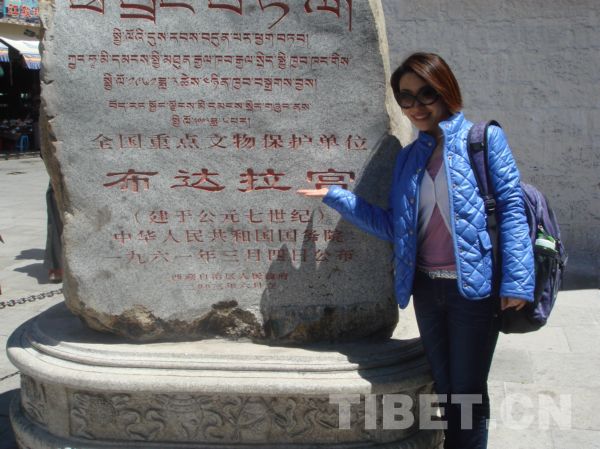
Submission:
<svg viewBox="0 0 600 449">
<path fill-rule="evenodd" d="M 9 342 L 19 444 L 438 444 L 418 420 L 383 425 L 383 395 L 417 413 L 431 391 L 419 342 L 389 338 L 390 245 L 296 194 L 386 204 L 402 130 L 379 1 L 55 0 L 41 15 L 65 305 Z"/>
</svg>

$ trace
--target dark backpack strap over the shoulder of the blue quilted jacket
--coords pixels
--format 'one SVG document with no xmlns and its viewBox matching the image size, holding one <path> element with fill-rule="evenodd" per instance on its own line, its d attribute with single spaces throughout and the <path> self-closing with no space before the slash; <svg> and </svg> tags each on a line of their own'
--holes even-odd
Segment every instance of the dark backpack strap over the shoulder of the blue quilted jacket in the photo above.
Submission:
<svg viewBox="0 0 600 449">
<path fill-rule="evenodd" d="M 498 222 L 496 220 L 496 198 L 492 184 L 488 156 L 488 129 L 495 125 L 501 128 L 495 120 L 479 122 L 469 130 L 467 137 L 467 153 L 471 161 L 471 169 L 477 181 L 479 194 L 483 199 L 485 213 L 487 216 L 487 230 L 492 242 L 492 254 L 494 260 L 494 273 L 496 286 L 499 284 L 499 254 L 498 254 Z"/>
</svg>

